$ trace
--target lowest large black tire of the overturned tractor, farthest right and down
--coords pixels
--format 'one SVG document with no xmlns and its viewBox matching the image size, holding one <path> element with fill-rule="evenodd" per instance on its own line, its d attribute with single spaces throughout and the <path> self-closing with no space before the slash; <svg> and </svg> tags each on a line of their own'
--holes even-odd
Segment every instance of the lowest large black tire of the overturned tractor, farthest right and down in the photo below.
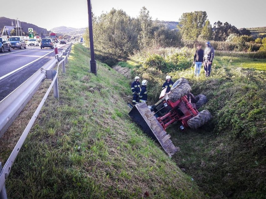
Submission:
<svg viewBox="0 0 266 199">
<path fill-rule="evenodd" d="M 206 124 L 211 119 L 211 114 L 208 110 L 203 110 L 198 113 L 195 117 L 188 120 L 188 126 L 191 129 L 197 129 L 200 126 Z"/>
</svg>

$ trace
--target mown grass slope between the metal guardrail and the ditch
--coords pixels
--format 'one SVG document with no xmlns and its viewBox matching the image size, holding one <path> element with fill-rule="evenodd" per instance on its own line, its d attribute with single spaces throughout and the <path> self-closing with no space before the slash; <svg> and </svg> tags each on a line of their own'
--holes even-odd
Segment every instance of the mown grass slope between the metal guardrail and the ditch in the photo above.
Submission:
<svg viewBox="0 0 266 199">
<path fill-rule="evenodd" d="M 131 80 L 106 64 L 97 76 L 88 73 L 88 54 L 81 44 L 72 47 L 59 73 L 59 99 L 50 93 L 11 169 L 8 198 L 204 198 L 129 118 L 123 97 L 131 96 Z M 92 89 L 98 84 L 100 92 Z M 1 139 L 3 163 L 48 85 Z"/>
</svg>

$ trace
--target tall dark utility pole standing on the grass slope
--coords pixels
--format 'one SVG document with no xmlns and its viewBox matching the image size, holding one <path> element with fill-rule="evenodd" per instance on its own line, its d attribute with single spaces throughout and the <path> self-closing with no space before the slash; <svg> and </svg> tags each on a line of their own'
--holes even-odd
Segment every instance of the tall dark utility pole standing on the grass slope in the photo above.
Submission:
<svg viewBox="0 0 266 199">
<path fill-rule="evenodd" d="M 92 34 L 92 15 L 91 15 L 91 0 L 87 0 L 88 4 L 88 15 L 89 15 L 89 38 L 90 38 L 90 49 L 91 49 L 91 73 L 94 73 L 97 75 L 97 70 L 96 70 L 96 61 L 95 61 L 95 56 L 94 56 L 94 45 L 93 45 L 93 34 Z"/>
</svg>

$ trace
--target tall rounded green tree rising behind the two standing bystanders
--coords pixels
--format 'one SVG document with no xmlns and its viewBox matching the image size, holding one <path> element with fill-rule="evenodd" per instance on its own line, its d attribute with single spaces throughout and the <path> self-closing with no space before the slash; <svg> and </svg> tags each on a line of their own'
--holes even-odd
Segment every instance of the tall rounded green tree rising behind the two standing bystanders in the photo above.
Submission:
<svg viewBox="0 0 266 199">
<path fill-rule="evenodd" d="M 177 26 L 185 40 L 197 40 L 203 27 L 205 26 L 207 13 L 205 11 L 195 11 L 183 13 Z"/>
</svg>

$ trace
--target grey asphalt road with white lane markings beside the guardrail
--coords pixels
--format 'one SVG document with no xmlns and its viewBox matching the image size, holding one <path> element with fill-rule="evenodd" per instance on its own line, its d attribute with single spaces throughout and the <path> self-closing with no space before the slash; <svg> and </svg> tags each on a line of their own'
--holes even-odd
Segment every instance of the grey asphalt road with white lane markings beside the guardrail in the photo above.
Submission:
<svg viewBox="0 0 266 199">
<path fill-rule="evenodd" d="M 64 49 L 62 45 L 57 47 L 58 53 Z M 54 56 L 54 50 L 40 46 L 0 53 L 0 101 Z"/>
</svg>

